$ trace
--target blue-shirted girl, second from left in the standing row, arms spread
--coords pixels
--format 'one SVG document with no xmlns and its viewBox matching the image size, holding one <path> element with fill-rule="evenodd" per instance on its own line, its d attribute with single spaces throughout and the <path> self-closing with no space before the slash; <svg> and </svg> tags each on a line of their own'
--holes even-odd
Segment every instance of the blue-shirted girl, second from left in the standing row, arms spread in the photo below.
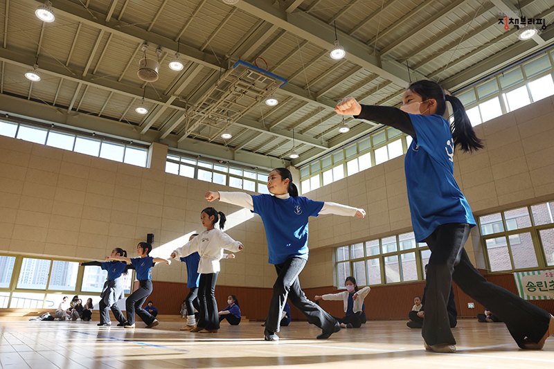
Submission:
<svg viewBox="0 0 554 369">
<path fill-rule="evenodd" d="M 136 314 L 146 323 L 147 328 L 159 325 L 159 321 L 143 309 L 142 306 L 146 298 L 152 294 L 152 280 L 150 280 L 152 276 L 150 269 L 152 269 L 157 262 L 165 262 L 168 265 L 171 264 L 171 262 L 162 258 L 152 258 L 149 256 L 150 251 L 152 251 L 151 244 L 148 242 L 139 242 L 136 246 L 136 253 L 139 255 L 139 258 L 129 259 L 123 256 L 110 256 L 106 258 L 106 260 L 119 260 L 132 264 L 136 271 L 136 279 L 139 280 L 139 289 L 130 294 L 125 301 L 125 309 L 127 310 L 127 325 L 125 325 L 125 328 L 134 328 L 135 310 Z"/>
</svg>

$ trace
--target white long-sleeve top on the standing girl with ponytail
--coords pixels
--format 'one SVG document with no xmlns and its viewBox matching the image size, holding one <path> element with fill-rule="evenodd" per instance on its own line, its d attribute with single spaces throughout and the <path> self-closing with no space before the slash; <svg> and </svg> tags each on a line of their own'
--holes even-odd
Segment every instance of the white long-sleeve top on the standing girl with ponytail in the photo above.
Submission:
<svg viewBox="0 0 554 369">
<path fill-rule="evenodd" d="M 210 231 L 203 231 L 183 246 L 173 251 L 175 258 L 188 256 L 195 251 L 200 255 L 198 273 L 217 273 L 221 270 L 220 259 L 223 258 L 223 249 L 236 253 L 242 243 L 233 240 L 229 235 L 219 229 L 213 228 Z"/>
</svg>

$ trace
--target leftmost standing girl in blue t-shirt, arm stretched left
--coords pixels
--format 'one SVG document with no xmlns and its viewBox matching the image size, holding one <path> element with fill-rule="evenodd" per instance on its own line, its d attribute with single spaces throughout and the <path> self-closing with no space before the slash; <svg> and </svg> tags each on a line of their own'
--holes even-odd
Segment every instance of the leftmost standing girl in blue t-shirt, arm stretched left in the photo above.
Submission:
<svg viewBox="0 0 554 369">
<path fill-rule="evenodd" d="M 110 256 L 123 256 L 127 258 L 127 251 L 116 247 L 111 251 Z M 127 324 L 127 319 L 119 309 L 117 302 L 121 298 L 125 297 L 123 291 L 123 276 L 127 276 L 127 270 L 132 269 L 131 265 L 127 265 L 125 262 L 112 261 L 112 262 L 80 262 L 79 265 L 83 267 L 95 266 L 101 267 L 108 272 L 108 279 L 104 283 L 102 293 L 100 293 L 100 303 L 98 303 L 98 309 L 100 310 L 100 327 L 111 325 L 109 319 L 109 309 L 114 313 L 114 317 L 119 322 L 118 326 L 123 327 Z"/>
</svg>

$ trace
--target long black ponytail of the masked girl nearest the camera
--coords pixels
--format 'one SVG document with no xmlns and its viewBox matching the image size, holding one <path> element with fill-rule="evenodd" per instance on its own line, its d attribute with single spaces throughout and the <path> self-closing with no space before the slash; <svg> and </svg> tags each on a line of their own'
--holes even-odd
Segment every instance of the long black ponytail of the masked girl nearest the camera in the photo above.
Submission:
<svg viewBox="0 0 554 369">
<path fill-rule="evenodd" d="M 482 149 L 483 141 L 475 134 L 462 102 L 452 95 L 447 95 L 445 99 L 450 102 L 454 110 L 454 121 L 450 123 L 454 144 L 465 152 Z"/>
</svg>

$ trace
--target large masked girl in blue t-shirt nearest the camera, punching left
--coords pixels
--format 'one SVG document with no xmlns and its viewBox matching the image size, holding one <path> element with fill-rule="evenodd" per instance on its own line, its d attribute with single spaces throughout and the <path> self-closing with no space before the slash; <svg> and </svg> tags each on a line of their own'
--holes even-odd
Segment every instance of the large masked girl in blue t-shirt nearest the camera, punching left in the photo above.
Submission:
<svg viewBox="0 0 554 369">
<path fill-rule="evenodd" d="M 443 118 L 446 102 L 454 110 L 452 125 Z M 413 138 L 404 159 L 413 232 L 417 242 L 427 242 L 431 249 L 422 328 L 425 348 L 456 351 L 447 314 L 454 280 L 465 294 L 492 309 L 506 323 L 520 348 L 541 349 L 548 336 L 554 334 L 554 317 L 488 282 L 463 249 L 475 221 L 454 180 L 454 147 L 473 152 L 483 148 L 483 143 L 461 101 L 445 96 L 436 82 L 420 80 L 404 92 L 400 109 L 360 105 L 355 98 L 345 98 L 335 111 L 390 125 Z"/>
</svg>

